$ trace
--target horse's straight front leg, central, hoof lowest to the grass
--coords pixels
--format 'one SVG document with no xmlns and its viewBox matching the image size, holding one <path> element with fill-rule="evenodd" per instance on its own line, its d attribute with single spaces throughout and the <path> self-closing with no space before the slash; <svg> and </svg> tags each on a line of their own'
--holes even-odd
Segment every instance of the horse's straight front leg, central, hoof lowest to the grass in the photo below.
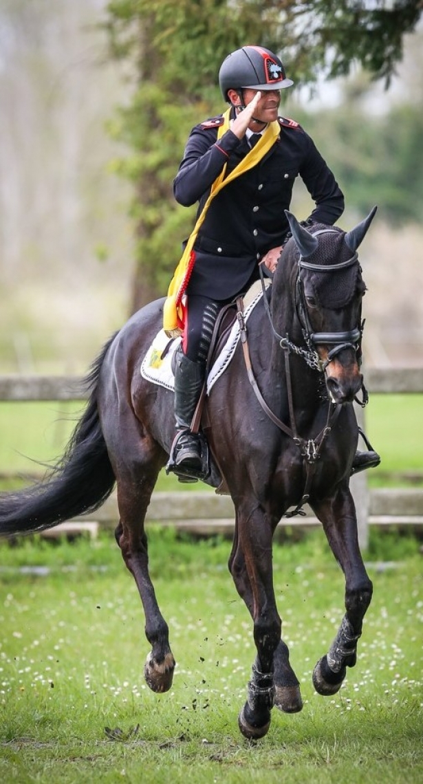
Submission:
<svg viewBox="0 0 423 784">
<path fill-rule="evenodd" d="M 236 589 L 253 618 L 257 658 L 248 684 L 248 699 L 239 713 L 239 729 L 248 739 L 262 738 L 270 726 L 274 700 L 274 655 L 281 620 L 272 578 L 272 526 L 259 506 L 236 513 L 235 539 L 229 568 Z"/>
</svg>

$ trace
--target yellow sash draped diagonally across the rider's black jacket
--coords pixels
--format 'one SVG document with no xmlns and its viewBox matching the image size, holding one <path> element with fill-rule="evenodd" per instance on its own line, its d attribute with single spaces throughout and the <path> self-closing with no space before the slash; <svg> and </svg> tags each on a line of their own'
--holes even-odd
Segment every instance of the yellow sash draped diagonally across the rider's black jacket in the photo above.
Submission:
<svg viewBox="0 0 423 784">
<path fill-rule="evenodd" d="M 224 112 L 224 122 L 222 125 L 220 125 L 217 131 L 217 139 L 220 139 L 221 136 L 223 136 L 224 133 L 231 127 L 230 113 L 230 109 Z M 195 223 L 195 227 L 188 238 L 188 242 L 181 256 L 181 260 L 173 274 L 172 281 L 170 281 L 166 302 L 163 307 L 163 328 L 167 336 L 173 338 L 181 335 L 183 332 L 184 314 L 181 300 L 184 296 L 184 291 L 188 286 L 191 271 L 195 263 L 195 252 L 192 250 L 195 243 L 195 238 L 197 237 L 199 228 L 201 227 L 202 222 L 206 217 L 206 212 L 210 207 L 210 202 L 215 196 L 217 196 L 221 189 L 225 187 L 225 185 L 232 183 L 232 180 L 235 180 L 235 177 L 238 177 L 240 174 L 243 174 L 249 169 L 252 169 L 253 166 L 261 161 L 261 158 L 263 158 L 263 156 L 275 143 L 275 140 L 279 136 L 279 132 L 279 122 L 275 120 L 274 122 L 269 123 L 261 135 L 261 140 L 259 140 L 255 147 L 253 147 L 250 152 L 246 154 L 245 158 L 242 158 L 242 161 L 240 161 L 235 169 L 233 169 L 233 171 L 228 174 L 226 179 L 225 173 L 227 165 L 225 163 L 221 174 L 213 182 L 209 198 L 202 208 L 202 211 Z"/>
</svg>

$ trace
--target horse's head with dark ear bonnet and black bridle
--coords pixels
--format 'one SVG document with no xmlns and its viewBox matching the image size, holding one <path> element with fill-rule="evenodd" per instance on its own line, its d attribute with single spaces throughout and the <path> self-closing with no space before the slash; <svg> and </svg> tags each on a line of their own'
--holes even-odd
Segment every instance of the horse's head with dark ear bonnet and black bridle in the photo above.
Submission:
<svg viewBox="0 0 423 784">
<path fill-rule="evenodd" d="M 286 212 L 299 252 L 297 316 L 309 349 L 319 357 L 326 387 L 336 403 L 351 402 L 363 385 L 359 366 L 366 285 L 357 248 L 375 212 L 376 207 L 347 233 L 319 224 L 307 230 Z"/>
</svg>

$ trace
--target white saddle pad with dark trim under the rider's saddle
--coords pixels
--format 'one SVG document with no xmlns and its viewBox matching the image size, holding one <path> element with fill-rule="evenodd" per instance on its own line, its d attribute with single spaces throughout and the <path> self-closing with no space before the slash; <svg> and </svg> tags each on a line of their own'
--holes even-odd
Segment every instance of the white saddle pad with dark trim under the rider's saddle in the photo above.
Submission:
<svg viewBox="0 0 423 784">
<path fill-rule="evenodd" d="M 265 284 L 269 285 L 270 281 L 266 280 Z M 254 307 L 256 307 L 262 296 L 261 284 L 260 281 L 257 281 L 244 297 L 244 318 L 246 321 L 248 321 L 250 314 L 253 312 Z M 239 323 L 238 321 L 235 321 L 231 332 L 229 332 L 228 340 L 214 362 L 213 367 L 210 369 L 209 377 L 207 379 L 207 394 L 210 394 L 213 384 L 221 377 L 232 360 L 239 341 L 239 336 Z M 172 372 L 172 357 L 173 352 L 177 350 L 180 344 L 181 338 L 170 339 L 166 336 L 164 330 L 161 329 L 155 336 L 147 354 L 145 354 L 145 357 L 141 362 L 141 376 L 152 383 L 159 384 L 160 387 L 166 387 L 168 390 L 173 390 L 174 376 Z"/>
</svg>

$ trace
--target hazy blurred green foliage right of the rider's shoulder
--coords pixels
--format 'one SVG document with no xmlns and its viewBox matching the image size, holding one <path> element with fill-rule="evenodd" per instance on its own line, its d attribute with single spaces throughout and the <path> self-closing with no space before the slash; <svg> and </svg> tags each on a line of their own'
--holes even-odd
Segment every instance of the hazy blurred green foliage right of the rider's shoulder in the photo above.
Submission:
<svg viewBox="0 0 423 784">
<path fill-rule="evenodd" d="M 374 117 L 348 102 L 316 113 L 298 109 L 294 117 L 319 139 L 347 208 L 363 216 L 377 204 L 378 216 L 396 227 L 404 221 L 423 222 L 421 107 L 403 104 Z"/>
</svg>

